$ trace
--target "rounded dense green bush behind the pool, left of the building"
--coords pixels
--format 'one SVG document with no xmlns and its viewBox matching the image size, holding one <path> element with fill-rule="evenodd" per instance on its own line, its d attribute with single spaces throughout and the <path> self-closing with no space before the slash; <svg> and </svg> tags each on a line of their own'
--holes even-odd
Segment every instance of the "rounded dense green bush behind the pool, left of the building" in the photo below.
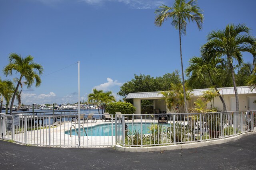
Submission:
<svg viewBox="0 0 256 170">
<path fill-rule="evenodd" d="M 122 114 L 133 114 L 136 111 L 136 108 L 130 103 L 126 102 L 114 102 L 109 103 L 106 106 L 105 112 L 109 114 L 116 114 L 116 112 L 121 112 Z"/>
</svg>

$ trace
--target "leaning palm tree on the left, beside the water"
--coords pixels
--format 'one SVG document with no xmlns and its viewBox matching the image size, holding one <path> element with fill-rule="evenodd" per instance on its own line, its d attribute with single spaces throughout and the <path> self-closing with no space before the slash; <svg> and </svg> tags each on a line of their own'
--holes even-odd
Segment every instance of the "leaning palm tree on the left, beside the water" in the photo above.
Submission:
<svg viewBox="0 0 256 170">
<path fill-rule="evenodd" d="M 41 79 L 40 75 L 43 74 L 43 67 L 40 64 L 34 63 L 34 57 L 28 55 L 26 58 L 23 58 L 21 55 L 16 53 L 11 53 L 9 55 L 9 64 L 4 67 L 4 74 L 6 76 L 12 76 L 12 71 L 16 71 L 16 73 L 20 73 L 20 78 L 17 79 L 17 86 L 12 96 L 12 102 L 10 108 L 12 108 L 15 96 L 18 92 L 18 88 L 21 85 L 22 78 L 25 78 L 25 84 L 30 88 L 34 81 L 36 80 L 36 87 L 40 86 Z M 35 71 L 37 70 L 38 73 Z M 21 85 L 22 86 L 22 85 Z M 12 114 L 12 109 L 10 109 L 10 115 Z"/>
</svg>

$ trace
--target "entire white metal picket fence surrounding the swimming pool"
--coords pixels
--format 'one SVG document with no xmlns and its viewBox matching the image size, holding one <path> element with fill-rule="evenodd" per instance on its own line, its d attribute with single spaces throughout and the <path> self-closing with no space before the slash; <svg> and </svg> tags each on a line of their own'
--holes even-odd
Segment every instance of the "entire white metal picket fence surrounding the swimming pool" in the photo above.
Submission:
<svg viewBox="0 0 256 170">
<path fill-rule="evenodd" d="M 223 139 L 255 131 L 255 111 L 122 115 L 0 114 L 0 137 L 50 147 L 149 147 Z M 78 127 L 80 121 L 80 127 Z M 80 130 L 81 136 L 78 136 Z M 80 141 L 80 142 L 79 142 Z"/>
</svg>

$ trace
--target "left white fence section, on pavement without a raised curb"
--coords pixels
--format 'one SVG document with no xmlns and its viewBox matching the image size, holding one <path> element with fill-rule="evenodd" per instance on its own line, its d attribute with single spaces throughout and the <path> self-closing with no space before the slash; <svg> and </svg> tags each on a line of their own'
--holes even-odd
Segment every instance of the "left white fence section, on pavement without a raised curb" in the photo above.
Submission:
<svg viewBox="0 0 256 170">
<path fill-rule="evenodd" d="M 110 116 L 113 117 L 113 115 Z M 2 139 L 26 145 L 113 147 L 113 121 L 100 118 L 102 118 L 101 114 L 81 114 L 80 118 L 78 115 L 1 114 L 0 134 Z M 80 127 L 78 127 L 78 121 L 80 121 Z"/>
</svg>

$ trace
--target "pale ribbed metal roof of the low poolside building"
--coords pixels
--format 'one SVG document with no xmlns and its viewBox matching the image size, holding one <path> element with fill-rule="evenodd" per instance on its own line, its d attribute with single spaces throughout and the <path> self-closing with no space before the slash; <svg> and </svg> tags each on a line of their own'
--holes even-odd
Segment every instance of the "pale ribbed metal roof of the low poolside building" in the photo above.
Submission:
<svg viewBox="0 0 256 170">
<path fill-rule="evenodd" d="M 195 89 L 192 90 L 191 96 L 202 96 L 202 92 L 209 90 L 209 88 Z M 221 95 L 232 95 L 235 94 L 234 87 L 218 88 Z M 249 86 L 237 87 L 238 94 L 256 94 L 256 90 L 251 90 Z M 141 92 L 141 93 L 129 93 L 126 99 L 158 99 L 162 98 L 163 95 L 160 92 Z"/>
</svg>

